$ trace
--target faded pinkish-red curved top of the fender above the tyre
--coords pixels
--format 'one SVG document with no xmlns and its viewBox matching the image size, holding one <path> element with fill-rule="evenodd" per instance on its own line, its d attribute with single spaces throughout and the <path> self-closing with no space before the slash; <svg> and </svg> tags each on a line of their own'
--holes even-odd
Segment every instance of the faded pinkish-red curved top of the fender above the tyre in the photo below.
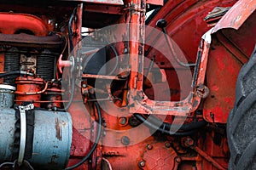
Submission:
<svg viewBox="0 0 256 170">
<path fill-rule="evenodd" d="M 240 0 L 230 10 L 224 14 L 217 25 L 214 26 L 212 33 L 224 28 L 239 29 L 247 18 L 253 14 L 256 8 L 255 0 Z"/>
</svg>

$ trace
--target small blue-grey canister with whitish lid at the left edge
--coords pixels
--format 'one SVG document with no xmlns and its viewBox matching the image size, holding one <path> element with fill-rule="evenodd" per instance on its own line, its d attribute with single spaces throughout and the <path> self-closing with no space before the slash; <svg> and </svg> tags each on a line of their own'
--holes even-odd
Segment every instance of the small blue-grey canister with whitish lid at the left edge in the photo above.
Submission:
<svg viewBox="0 0 256 170">
<path fill-rule="evenodd" d="M 0 107 L 10 108 L 14 105 L 16 88 L 7 84 L 0 84 Z"/>
</svg>

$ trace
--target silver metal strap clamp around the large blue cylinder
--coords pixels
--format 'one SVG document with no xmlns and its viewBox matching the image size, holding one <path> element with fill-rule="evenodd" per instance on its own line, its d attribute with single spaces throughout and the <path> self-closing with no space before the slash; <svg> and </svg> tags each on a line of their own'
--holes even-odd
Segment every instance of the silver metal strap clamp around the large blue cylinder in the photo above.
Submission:
<svg viewBox="0 0 256 170">
<path fill-rule="evenodd" d="M 34 109 L 34 105 L 19 106 L 20 110 L 20 150 L 18 164 L 21 165 L 24 160 L 26 147 L 26 111 Z"/>
</svg>

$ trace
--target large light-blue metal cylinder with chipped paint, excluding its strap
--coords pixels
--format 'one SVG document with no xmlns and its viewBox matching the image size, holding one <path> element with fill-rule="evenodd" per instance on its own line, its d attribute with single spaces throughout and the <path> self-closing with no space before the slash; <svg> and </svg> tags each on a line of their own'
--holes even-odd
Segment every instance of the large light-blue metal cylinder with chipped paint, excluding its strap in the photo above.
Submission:
<svg viewBox="0 0 256 170">
<path fill-rule="evenodd" d="M 0 162 L 12 160 L 15 122 L 14 109 L 1 109 L 0 125 L 5 128 L 0 129 Z M 69 159 L 71 142 L 72 119 L 69 113 L 36 110 L 33 154 L 27 161 L 40 169 L 63 169 Z"/>
</svg>

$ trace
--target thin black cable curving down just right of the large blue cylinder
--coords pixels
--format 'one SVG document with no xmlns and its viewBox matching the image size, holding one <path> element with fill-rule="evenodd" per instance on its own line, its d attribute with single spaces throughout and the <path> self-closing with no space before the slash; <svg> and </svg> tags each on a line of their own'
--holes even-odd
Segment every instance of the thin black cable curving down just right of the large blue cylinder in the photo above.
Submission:
<svg viewBox="0 0 256 170">
<path fill-rule="evenodd" d="M 99 104 L 95 102 L 95 105 L 96 105 L 96 110 L 97 110 L 97 114 L 98 114 L 98 118 L 99 118 L 95 143 L 92 145 L 89 153 L 86 156 L 84 156 L 84 158 L 81 161 L 79 161 L 77 164 L 75 164 L 71 167 L 67 167 L 65 170 L 71 170 L 71 169 L 74 169 L 76 167 L 79 167 L 85 161 L 87 161 L 88 158 L 91 156 L 91 154 L 94 152 L 94 150 L 96 150 L 96 146 L 99 143 L 99 141 L 101 139 L 101 134 L 102 134 L 102 112 L 101 112 L 101 108 L 100 108 Z"/>
</svg>

